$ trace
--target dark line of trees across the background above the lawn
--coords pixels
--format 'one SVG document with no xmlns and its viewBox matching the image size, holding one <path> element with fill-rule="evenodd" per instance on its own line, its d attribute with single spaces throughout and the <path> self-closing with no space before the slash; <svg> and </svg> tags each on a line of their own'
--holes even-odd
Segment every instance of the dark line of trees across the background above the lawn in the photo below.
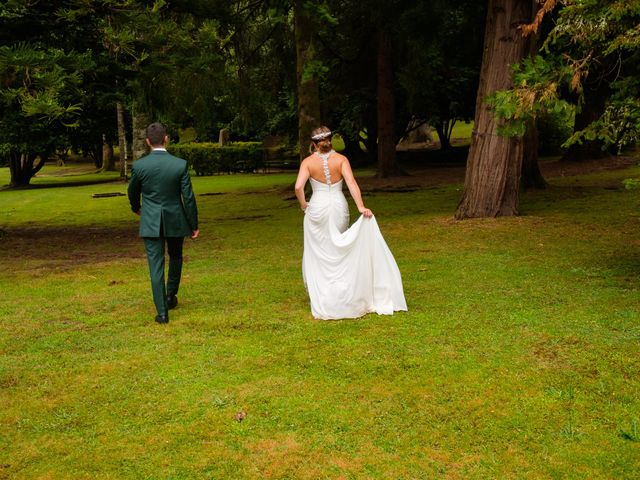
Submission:
<svg viewBox="0 0 640 480">
<path fill-rule="evenodd" d="M 447 149 L 475 119 L 457 216 L 517 214 L 521 182 L 544 186 L 537 126 L 575 115 L 572 159 L 637 143 L 639 18 L 638 0 L 2 1 L 0 157 L 19 186 L 69 148 L 109 169 L 118 144 L 123 168 L 152 119 L 301 156 L 326 123 L 384 177 L 408 129 Z"/>
</svg>

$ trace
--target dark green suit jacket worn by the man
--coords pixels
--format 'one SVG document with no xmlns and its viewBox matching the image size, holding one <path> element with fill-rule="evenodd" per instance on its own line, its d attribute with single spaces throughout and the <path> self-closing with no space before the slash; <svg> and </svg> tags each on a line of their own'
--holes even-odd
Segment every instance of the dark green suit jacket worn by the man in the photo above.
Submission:
<svg viewBox="0 0 640 480">
<path fill-rule="evenodd" d="M 128 194 L 131 210 L 140 212 L 141 237 L 186 237 L 198 229 L 198 209 L 185 160 L 163 150 L 136 160 Z"/>
</svg>

